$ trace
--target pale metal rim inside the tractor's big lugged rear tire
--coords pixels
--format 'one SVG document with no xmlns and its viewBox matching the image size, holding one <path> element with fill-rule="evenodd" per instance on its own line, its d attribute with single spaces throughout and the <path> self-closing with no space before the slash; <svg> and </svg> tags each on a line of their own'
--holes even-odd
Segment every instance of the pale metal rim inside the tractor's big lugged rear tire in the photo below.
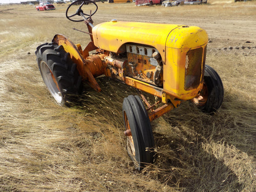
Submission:
<svg viewBox="0 0 256 192">
<path fill-rule="evenodd" d="M 47 66 L 46 62 L 43 60 L 40 61 L 40 69 L 42 73 L 42 78 L 44 79 L 45 84 L 49 89 L 51 95 L 58 103 L 61 103 L 63 98 L 62 98 L 60 89 L 58 87 L 56 78 L 54 77 L 50 68 Z"/>
</svg>

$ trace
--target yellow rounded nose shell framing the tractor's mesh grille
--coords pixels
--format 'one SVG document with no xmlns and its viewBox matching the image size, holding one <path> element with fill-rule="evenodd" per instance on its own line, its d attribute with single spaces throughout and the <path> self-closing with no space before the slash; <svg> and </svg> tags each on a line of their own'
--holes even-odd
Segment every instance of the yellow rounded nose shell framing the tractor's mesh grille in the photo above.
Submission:
<svg viewBox="0 0 256 192">
<path fill-rule="evenodd" d="M 182 100 L 188 100 L 198 95 L 198 92 L 202 89 L 202 83 L 194 90 L 184 90 L 186 53 L 191 49 L 200 47 L 204 50 L 207 42 L 208 35 L 206 31 L 195 26 L 178 27 L 168 35 L 165 65 L 163 66 L 163 88 L 167 95 L 174 95 Z M 203 64 L 202 58 L 202 69 Z"/>
</svg>

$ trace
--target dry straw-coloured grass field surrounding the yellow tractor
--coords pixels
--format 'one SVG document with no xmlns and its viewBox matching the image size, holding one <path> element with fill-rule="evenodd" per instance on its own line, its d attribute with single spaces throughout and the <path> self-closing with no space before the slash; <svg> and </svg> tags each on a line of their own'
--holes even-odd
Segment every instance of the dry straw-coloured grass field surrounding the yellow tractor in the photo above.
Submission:
<svg viewBox="0 0 256 192">
<path fill-rule="evenodd" d="M 98 3 L 111 19 L 196 25 L 208 32 L 207 65 L 224 85 L 215 115 L 190 102 L 153 121 L 156 162 L 138 172 L 126 153 L 122 101 L 139 91 L 98 78 L 79 104 L 56 105 L 35 50 L 54 34 L 87 45 L 66 5 L 38 12 L 0 6 L 0 191 L 256 191 L 256 1 L 162 7 Z M 88 10 L 91 5 L 87 6 Z"/>
</svg>

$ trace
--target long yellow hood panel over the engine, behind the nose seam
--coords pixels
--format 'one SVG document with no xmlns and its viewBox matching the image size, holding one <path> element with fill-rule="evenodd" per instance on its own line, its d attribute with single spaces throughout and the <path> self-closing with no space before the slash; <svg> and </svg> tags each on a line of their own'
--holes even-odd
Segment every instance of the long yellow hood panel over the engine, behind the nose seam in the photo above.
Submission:
<svg viewBox="0 0 256 192">
<path fill-rule="evenodd" d="M 164 50 L 166 38 L 179 25 L 111 22 L 96 25 L 93 32 L 94 45 L 100 49 L 122 52 L 119 48 L 126 42 L 153 46 L 157 50 Z"/>
</svg>

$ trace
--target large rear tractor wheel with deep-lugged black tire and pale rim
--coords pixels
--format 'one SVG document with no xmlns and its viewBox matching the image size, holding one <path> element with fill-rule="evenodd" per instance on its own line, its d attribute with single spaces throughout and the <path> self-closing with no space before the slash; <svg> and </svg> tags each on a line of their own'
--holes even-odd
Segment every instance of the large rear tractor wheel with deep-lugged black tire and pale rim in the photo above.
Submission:
<svg viewBox="0 0 256 192">
<path fill-rule="evenodd" d="M 50 94 L 58 105 L 67 105 L 82 91 L 82 78 L 70 54 L 62 46 L 42 44 L 36 49 L 38 68 Z"/>
</svg>

